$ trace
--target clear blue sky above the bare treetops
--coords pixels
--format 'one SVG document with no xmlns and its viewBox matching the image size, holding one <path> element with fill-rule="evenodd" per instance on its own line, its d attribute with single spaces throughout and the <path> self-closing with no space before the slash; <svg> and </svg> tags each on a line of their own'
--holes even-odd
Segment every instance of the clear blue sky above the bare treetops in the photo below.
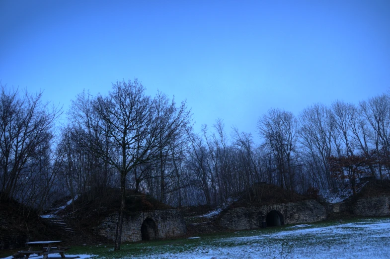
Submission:
<svg viewBox="0 0 390 259">
<path fill-rule="evenodd" d="M 68 110 L 137 78 L 195 121 L 259 117 L 390 89 L 389 0 L 0 0 L 0 80 Z M 65 116 L 65 115 L 64 115 Z"/>
</svg>

